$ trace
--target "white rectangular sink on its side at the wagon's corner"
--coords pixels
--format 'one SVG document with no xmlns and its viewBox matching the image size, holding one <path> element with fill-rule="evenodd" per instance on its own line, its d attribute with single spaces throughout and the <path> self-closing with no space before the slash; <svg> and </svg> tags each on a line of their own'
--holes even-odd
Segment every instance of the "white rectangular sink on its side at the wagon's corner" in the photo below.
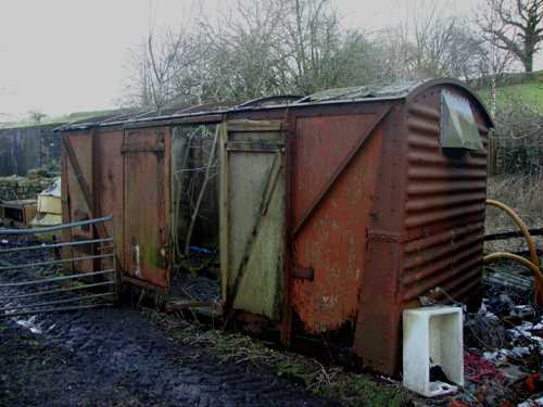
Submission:
<svg viewBox="0 0 543 407">
<path fill-rule="evenodd" d="M 449 380 L 464 385 L 464 340 L 460 307 L 422 307 L 403 313 L 403 383 L 426 397 L 454 393 L 457 386 L 430 382 L 439 365 Z"/>
</svg>

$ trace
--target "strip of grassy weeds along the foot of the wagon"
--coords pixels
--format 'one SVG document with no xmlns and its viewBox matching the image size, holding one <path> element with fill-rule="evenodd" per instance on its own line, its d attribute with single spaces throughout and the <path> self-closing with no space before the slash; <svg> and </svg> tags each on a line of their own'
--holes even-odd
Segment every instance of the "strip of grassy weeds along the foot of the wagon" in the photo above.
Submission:
<svg viewBox="0 0 543 407">
<path fill-rule="evenodd" d="M 409 394 L 401 383 L 386 383 L 367 373 L 346 371 L 334 365 L 325 366 L 315 358 L 288 351 L 275 351 L 241 333 L 203 331 L 184 320 L 148 311 L 182 345 L 212 351 L 222 364 L 265 367 L 315 396 L 339 400 L 346 406 L 401 407 L 409 403 Z"/>
</svg>

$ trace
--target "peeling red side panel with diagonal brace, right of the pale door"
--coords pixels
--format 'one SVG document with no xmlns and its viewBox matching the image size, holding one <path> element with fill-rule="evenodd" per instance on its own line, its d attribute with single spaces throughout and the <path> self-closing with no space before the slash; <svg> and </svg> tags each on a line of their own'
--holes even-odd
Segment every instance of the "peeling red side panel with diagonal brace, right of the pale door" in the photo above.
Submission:
<svg viewBox="0 0 543 407">
<path fill-rule="evenodd" d="M 311 333 L 353 326 L 356 318 L 381 130 L 374 130 L 357 154 L 351 153 L 380 118 L 379 114 L 296 118 L 294 225 L 315 198 L 323 196 L 293 242 L 294 267 L 313 269 L 313 281 L 292 278 L 290 294 L 292 307 Z M 351 160 L 343 166 L 346 157 Z M 334 182 L 323 195 L 331 177 Z"/>
</svg>

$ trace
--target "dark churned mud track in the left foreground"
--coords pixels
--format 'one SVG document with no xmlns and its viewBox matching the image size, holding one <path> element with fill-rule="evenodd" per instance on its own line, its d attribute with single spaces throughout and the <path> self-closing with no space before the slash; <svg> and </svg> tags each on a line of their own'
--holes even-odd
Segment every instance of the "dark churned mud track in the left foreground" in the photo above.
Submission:
<svg viewBox="0 0 543 407">
<path fill-rule="evenodd" d="M 225 366 L 206 349 L 181 346 L 143 313 L 106 308 L 35 317 L 18 323 L 1 319 L 0 405 L 327 403 L 268 371 Z"/>
</svg>

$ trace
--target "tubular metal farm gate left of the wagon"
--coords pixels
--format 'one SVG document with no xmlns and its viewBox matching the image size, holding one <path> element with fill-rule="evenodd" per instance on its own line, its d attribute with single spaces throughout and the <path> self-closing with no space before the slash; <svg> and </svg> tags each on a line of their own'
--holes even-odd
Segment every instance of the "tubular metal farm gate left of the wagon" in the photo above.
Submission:
<svg viewBox="0 0 543 407">
<path fill-rule="evenodd" d="M 62 231 L 108 222 L 111 216 L 41 229 L 0 229 L 0 317 L 113 305 L 118 288 L 113 238 L 56 240 Z M 91 262 L 92 271 L 77 272 L 81 262 Z"/>
</svg>

